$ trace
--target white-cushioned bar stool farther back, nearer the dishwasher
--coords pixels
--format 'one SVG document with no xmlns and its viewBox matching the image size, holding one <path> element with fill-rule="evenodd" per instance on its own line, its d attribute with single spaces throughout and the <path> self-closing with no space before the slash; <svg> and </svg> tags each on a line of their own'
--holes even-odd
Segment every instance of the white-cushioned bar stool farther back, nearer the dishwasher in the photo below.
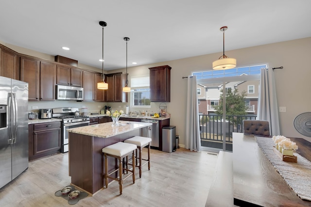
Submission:
<svg viewBox="0 0 311 207">
<path fill-rule="evenodd" d="M 140 136 L 135 136 L 132 137 L 130 139 L 124 140 L 124 143 L 131 143 L 131 144 L 136 144 L 139 150 L 139 165 L 138 165 L 138 161 L 137 161 L 137 149 L 136 149 L 136 164 L 135 166 L 138 167 L 139 169 L 139 177 L 141 177 L 141 168 L 142 166 L 144 166 L 145 164 L 148 163 L 148 170 L 150 170 L 150 143 L 151 143 L 151 138 L 148 137 L 140 137 Z M 142 159 L 141 158 L 141 150 L 143 147 L 148 146 L 148 159 Z M 144 164 L 142 164 L 141 160 L 145 160 L 147 162 L 145 162 Z M 134 166 L 134 159 L 133 159 L 133 166 Z"/>
</svg>

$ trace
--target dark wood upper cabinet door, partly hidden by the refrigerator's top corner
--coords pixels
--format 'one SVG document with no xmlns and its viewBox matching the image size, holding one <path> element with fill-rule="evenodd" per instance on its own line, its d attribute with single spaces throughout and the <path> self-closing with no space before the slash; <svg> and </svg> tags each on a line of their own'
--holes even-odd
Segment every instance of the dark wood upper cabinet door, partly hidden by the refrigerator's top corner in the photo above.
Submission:
<svg viewBox="0 0 311 207">
<path fill-rule="evenodd" d="M 20 80 L 28 82 L 28 100 L 39 100 L 40 87 L 40 61 L 21 57 L 20 58 Z"/>
</svg>

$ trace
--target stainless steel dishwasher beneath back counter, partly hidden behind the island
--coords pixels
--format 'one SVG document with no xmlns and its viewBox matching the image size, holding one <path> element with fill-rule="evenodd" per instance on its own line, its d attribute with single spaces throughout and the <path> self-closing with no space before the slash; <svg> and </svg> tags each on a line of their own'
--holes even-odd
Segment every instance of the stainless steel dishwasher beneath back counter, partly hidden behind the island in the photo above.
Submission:
<svg viewBox="0 0 311 207">
<path fill-rule="evenodd" d="M 140 129 L 140 136 L 151 138 L 151 147 L 159 148 L 159 122 L 151 119 L 141 119 L 141 122 L 152 123 L 151 126 Z"/>
</svg>

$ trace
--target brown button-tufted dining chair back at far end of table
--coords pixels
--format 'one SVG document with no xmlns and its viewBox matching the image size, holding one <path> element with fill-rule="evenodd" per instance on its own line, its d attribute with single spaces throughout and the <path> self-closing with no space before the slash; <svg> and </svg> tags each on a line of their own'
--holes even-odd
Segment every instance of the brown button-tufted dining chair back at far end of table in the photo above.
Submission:
<svg viewBox="0 0 311 207">
<path fill-rule="evenodd" d="M 243 120 L 245 135 L 270 136 L 269 122 L 264 120 Z"/>
</svg>

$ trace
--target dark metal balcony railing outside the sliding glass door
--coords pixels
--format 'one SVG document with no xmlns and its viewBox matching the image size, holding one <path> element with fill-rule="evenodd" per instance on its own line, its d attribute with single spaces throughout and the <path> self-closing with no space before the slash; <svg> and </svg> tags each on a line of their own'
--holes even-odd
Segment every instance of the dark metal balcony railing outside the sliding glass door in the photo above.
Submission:
<svg viewBox="0 0 311 207">
<path fill-rule="evenodd" d="M 201 140 L 211 142 L 223 142 L 225 130 L 226 143 L 232 143 L 232 132 L 242 132 L 243 120 L 256 120 L 257 116 L 228 115 L 223 128 L 223 115 L 199 114 Z"/>
</svg>

